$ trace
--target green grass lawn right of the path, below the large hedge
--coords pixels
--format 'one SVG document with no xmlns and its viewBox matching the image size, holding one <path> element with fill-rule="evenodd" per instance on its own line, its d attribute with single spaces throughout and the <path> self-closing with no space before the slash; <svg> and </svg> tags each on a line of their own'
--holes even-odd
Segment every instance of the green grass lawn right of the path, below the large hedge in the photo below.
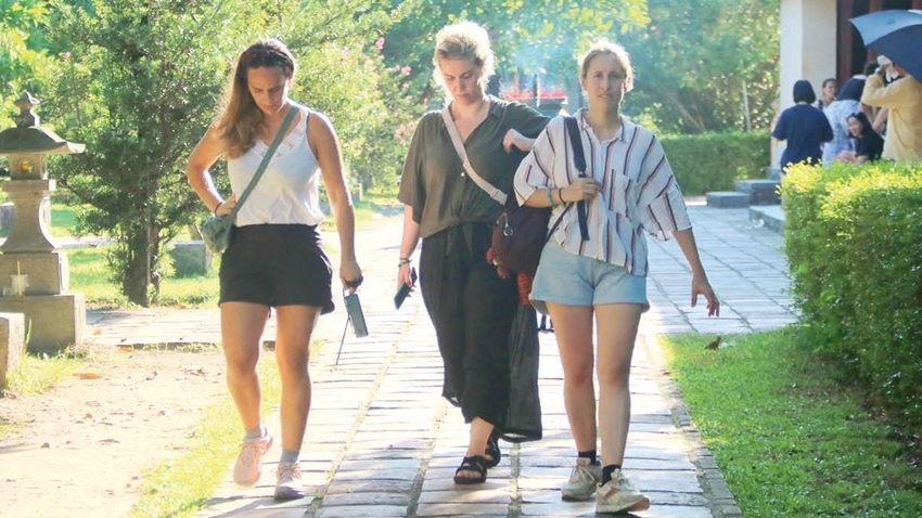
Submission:
<svg viewBox="0 0 922 518">
<path fill-rule="evenodd" d="M 743 516 L 920 517 L 922 469 L 798 347 L 792 329 L 663 337 L 666 361 Z"/>
</svg>

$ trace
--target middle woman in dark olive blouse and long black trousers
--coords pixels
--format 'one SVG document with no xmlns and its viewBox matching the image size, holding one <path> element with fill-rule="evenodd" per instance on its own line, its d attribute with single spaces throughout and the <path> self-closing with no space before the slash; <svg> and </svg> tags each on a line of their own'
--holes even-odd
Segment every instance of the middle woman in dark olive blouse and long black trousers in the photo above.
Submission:
<svg viewBox="0 0 922 518">
<path fill-rule="evenodd" d="M 487 30 L 473 22 L 436 35 L 435 78 L 470 167 L 508 194 L 518 164 L 550 120 L 518 102 L 487 94 L 495 56 Z M 454 482 L 479 484 L 501 452 L 497 438 L 509 407 L 509 334 L 518 307 L 516 276 L 487 262 L 492 228 L 503 211 L 465 171 L 440 111 L 420 119 L 404 163 L 405 205 L 397 286 L 412 287 L 412 254 L 422 238 L 420 288 L 444 364 L 441 396 L 470 425 Z"/>
</svg>

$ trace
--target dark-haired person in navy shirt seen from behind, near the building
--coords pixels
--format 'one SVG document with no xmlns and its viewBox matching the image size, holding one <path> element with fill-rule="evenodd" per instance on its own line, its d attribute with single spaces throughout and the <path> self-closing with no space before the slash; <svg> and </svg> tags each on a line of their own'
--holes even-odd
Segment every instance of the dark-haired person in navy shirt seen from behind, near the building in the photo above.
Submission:
<svg viewBox="0 0 922 518">
<path fill-rule="evenodd" d="M 786 141 L 787 147 L 781 154 L 781 170 L 792 164 L 807 161 L 819 164 L 822 158 L 820 146 L 832 140 L 832 127 L 822 112 L 810 106 L 817 100 L 810 81 L 801 79 L 794 83 L 794 106 L 785 109 L 778 118 L 771 137 Z"/>
</svg>

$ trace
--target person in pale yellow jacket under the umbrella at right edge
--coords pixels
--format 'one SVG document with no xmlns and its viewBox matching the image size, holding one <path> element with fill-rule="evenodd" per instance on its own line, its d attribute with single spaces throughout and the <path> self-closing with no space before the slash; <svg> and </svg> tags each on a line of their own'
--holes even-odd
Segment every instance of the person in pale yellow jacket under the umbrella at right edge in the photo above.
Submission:
<svg viewBox="0 0 922 518">
<path fill-rule="evenodd" d="M 889 85 L 887 73 L 901 77 Z M 922 82 L 907 74 L 898 63 L 885 62 L 868 76 L 861 102 L 887 108 L 883 157 L 906 163 L 922 161 Z"/>
</svg>

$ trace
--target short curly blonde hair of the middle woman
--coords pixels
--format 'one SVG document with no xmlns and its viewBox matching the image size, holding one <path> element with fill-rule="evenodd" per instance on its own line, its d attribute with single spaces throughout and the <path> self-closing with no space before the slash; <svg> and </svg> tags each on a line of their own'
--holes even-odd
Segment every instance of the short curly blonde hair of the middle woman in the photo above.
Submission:
<svg viewBox="0 0 922 518">
<path fill-rule="evenodd" d="M 471 60 L 478 68 L 483 67 L 484 75 L 481 76 L 479 83 L 485 90 L 496 72 L 496 56 L 490 49 L 487 29 L 474 22 L 448 25 L 435 35 L 435 53 L 432 57 L 432 64 L 435 65 L 433 77 L 443 89 L 445 89 L 445 78 L 438 65 L 444 60 Z"/>
</svg>

